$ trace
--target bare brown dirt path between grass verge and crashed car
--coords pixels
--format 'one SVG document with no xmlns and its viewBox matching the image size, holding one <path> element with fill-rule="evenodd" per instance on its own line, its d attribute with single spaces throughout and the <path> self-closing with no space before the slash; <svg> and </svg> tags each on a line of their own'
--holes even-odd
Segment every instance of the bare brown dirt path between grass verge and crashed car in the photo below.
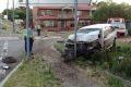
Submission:
<svg viewBox="0 0 131 87">
<path fill-rule="evenodd" d="M 63 87 L 102 87 L 84 72 L 79 71 L 71 64 L 63 63 L 60 53 L 55 49 L 46 49 L 43 58 L 55 70 Z"/>
</svg>

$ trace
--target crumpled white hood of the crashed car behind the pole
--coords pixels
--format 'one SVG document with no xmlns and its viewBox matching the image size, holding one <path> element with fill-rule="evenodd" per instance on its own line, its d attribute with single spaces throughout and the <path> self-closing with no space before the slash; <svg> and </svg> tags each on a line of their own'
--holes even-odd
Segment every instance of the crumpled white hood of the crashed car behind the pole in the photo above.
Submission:
<svg viewBox="0 0 131 87">
<path fill-rule="evenodd" d="M 98 34 L 99 34 L 99 30 L 91 32 L 87 34 L 76 33 L 76 41 L 86 41 L 86 42 L 95 41 L 98 39 Z M 74 34 L 70 35 L 68 39 L 73 41 Z"/>
</svg>

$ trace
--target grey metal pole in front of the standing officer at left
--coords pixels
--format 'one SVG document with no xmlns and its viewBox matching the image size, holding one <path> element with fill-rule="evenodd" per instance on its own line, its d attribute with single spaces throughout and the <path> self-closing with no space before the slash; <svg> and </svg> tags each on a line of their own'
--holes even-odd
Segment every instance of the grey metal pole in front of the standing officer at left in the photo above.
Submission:
<svg viewBox="0 0 131 87">
<path fill-rule="evenodd" d="M 29 7 L 28 7 L 28 0 L 26 0 L 26 30 L 27 30 L 27 38 L 26 38 L 26 42 L 27 42 L 27 59 L 29 58 L 29 35 L 28 35 L 28 21 L 29 17 Z"/>
</svg>

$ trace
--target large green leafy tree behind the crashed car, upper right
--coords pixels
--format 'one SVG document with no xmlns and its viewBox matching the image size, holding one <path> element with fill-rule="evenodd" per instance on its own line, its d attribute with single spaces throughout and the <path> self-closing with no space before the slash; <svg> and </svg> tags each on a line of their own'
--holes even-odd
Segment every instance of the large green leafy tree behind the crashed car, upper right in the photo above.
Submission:
<svg viewBox="0 0 131 87">
<path fill-rule="evenodd" d="M 97 3 L 97 10 L 93 15 L 93 20 L 98 23 L 105 23 L 109 17 L 124 17 L 126 20 L 131 20 L 130 15 L 131 5 L 127 3 L 99 2 Z"/>
</svg>

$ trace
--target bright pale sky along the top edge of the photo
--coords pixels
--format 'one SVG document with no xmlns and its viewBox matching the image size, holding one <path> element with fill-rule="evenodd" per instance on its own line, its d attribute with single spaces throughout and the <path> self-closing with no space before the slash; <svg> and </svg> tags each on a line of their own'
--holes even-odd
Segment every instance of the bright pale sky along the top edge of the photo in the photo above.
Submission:
<svg viewBox="0 0 131 87">
<path fill-rule="evenodd" d="M 43 1 L 43 0 L 38 0 L 38 1 Z M 49 0 L 45 0 L 45 1 L 49 1 Z M 52 0 L 50 0 L 52 1 Z M 56 1 L 56 0 L 55 0 Z M 67 1 L 67 0 L 59 0 L 59 1 Z M 72 0 L 73 1 L 73 0 Z M 81 0 L 81 1 L 85 1 L 85 0 Z M 93 1 L 96 1 L 96 0 L 93 0 Z M 97 0 L 97 1 L 104 1 L 104 0 Z M 131 4 L 131 0 L 112 0 L 114 2 L 117 2 L 117 3 L 121 3 L 121 2 L 127 2 L 129 4 Z M 7 2 L 8 0 L 0 0 L 0 13 L 7 9 Z M 14 2 L 16 2 L 16 0 L 14 0 Z M 15 4 L 16 7 L 16 4 Z M 9 0 L 9 8 L 12 8 L 12 0 Z"/>
</svg>

